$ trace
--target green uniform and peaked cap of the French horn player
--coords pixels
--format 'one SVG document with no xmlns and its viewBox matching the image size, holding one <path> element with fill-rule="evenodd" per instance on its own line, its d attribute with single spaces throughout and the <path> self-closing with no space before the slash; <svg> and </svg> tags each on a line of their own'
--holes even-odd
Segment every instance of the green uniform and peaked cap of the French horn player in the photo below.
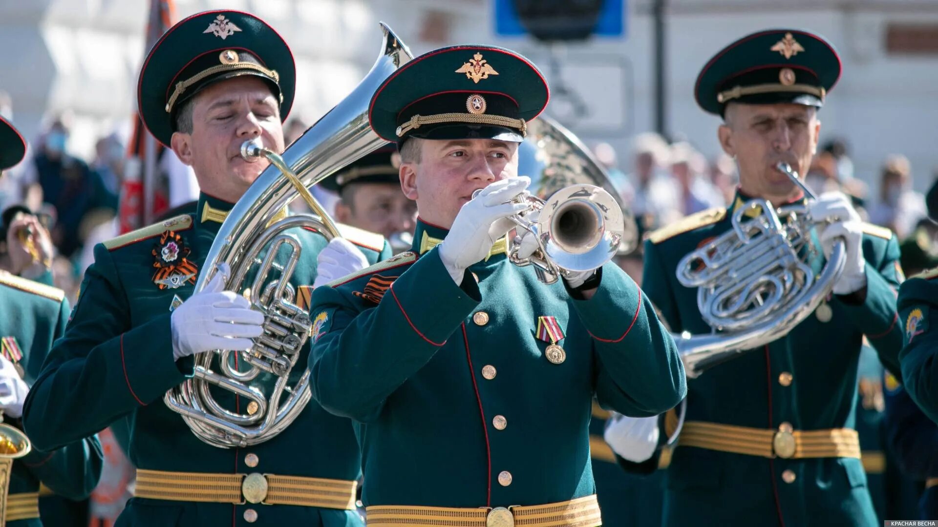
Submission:
<svg viewBox="0 0 938 527">
<path fill-rule="evenodd" d="M 820 107 L 839 77 L 837 53 L 823 38 L 770 30 L 717 53 L 698 77 L 696 97 L 719 115 L 731 101 Z M 696 289 L 677 280 L 677 265 L 731 229 L 748 200 L 737 192 L 729 210 L 693 215 L 646 241 L 643 289 L 673 331 L 712 331 Z M 824 251 L 818 234 L 810 237 L 805 258 L 817 275 Z M 861 244 L 865 292 L 832 294 L 786 337 L 688 381 L 666 525 L 875 524 L 854 430 L 857 361 L 865 336 L 887 368 L 898 367 L 901 276 L 890 231 L 865 224 Z"/>
</svg>

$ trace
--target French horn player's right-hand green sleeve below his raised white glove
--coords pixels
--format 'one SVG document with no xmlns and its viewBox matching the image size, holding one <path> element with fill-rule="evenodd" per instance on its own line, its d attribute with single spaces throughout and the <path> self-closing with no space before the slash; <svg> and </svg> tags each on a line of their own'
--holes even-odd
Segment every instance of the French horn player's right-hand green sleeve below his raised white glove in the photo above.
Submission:
<svg viewBox="0 0 938 527">
<path fill-rule="evenodd" d="M 866 236 L 863 256 L 867 260 L 867 294 L 862 302 L 851 302 L 849 296 L 838 296 L 847 313 L 870 345 L 879 354 L 880 361 L 894 375 L 900 375 L 899 353 L 902 349 L 902 328 L 896 309 L 896 292 L 900 284 L 899 242 L 893 235 L 886 243 Z M 879 247 L 877 247 L 879 246 Z"/>
</svg>

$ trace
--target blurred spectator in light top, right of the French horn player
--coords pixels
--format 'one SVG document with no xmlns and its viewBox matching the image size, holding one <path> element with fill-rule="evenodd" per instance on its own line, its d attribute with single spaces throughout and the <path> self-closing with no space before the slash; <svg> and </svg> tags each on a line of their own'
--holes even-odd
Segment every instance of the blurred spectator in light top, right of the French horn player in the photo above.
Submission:
<svg viewBox="0 0 938 527">
<path fill-rule="evenodd" d="M 919 219 L 927 216 L 925 197 L 912 188 L 909 159 L 889 156 L 880 179 L 880 200 L 870 207 L 870 221 L 888 227 L 905 238 Z"/>
</svg>

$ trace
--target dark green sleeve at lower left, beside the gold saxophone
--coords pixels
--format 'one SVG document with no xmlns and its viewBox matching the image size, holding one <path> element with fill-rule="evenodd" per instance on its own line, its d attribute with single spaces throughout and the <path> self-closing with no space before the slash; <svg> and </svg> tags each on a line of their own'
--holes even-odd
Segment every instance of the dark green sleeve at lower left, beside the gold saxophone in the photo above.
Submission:
<svg viewBox="0 0 938 527">
<path fill-rule="evenodd" d="M 69 500 L 83 500 L 98 485 L 104 455 L 98 436 L 93 435 L 53 452 L 32 450 L 23 465 L 56 494 Z"/>
</svg>

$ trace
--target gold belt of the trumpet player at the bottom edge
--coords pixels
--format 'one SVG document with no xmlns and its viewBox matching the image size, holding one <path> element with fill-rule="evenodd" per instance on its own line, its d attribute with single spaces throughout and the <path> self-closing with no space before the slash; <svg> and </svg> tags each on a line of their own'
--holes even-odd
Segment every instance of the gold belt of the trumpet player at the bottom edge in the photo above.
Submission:
<svg viewBox="0 0 938 527">
<path fill-rule="evenodd" d="M 596 527 L 602 525 L 596 495 L 556 504 L 510 507 L 424 507 L 373 505 L 365 508 L 369 527 Z"/>
</svg>

